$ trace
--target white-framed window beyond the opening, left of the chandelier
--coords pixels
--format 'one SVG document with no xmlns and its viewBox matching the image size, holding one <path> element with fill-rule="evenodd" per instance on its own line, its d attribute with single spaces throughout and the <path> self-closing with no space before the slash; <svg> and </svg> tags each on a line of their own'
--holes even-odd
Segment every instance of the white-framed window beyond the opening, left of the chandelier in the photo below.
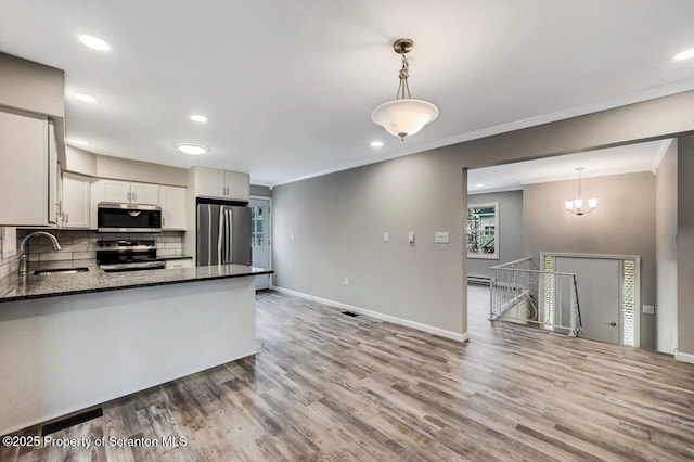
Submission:
<svg viewBox="0 0 694 462">
<path fill-rule="evenodd" d="M 467 258 L 499 259 L 499 204 L 467 207 Z"/>
</svg>

